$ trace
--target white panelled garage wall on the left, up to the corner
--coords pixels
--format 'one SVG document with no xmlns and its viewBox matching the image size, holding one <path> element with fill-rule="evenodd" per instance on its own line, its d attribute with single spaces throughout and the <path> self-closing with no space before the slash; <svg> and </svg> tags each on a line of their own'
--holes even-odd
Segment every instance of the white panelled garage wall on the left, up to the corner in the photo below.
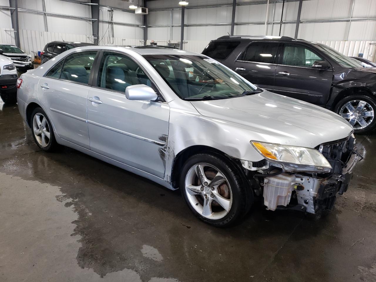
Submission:
<svg viewBox="0 0 376 282">
<path fill-rule="evenodd" d="M 32 54 L 43 49 L 47 42 L 54 40 L 94 42 L 92 35 L 91 7 L 63 0 L 45 0 L 45 11 L 63 15 L 80 17 L 66 18 L 55 15 L 37 14 L 35 12 L 18 11 L 21 49 Z M 101 1 L 101 5 L 114 7 L 112 21 L 114 22 L 114 38 L 109 38 L 108 10 L 100 6 L 99 40 L 105 44 L 143 45 L 143 18 L 128 9 L 129 3 L 121 0 Z M 9 0 L 0 0 L 0 7 L 9 7 Z M 19 9 L 43 11 L 43 0 L 18 0 Z M 119 10 L 117 10 L 118 8 Z M 120 10 L 121 9 L 121 10 Z M 106 22 L 105 22 L 106 21 Z M 46 28 L 47 23 L 47 28 Z M 46 30 L 47 29 L 47 30 Z M 0 42 L 15 44 L 14 32 L 9 9 L 0 9 Z"/>
</svg>

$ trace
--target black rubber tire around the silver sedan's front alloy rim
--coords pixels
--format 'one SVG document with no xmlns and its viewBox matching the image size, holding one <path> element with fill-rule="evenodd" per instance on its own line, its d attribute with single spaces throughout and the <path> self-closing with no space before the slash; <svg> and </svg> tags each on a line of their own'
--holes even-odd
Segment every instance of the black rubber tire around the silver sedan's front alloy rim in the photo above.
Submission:
<svg viewBox="0 0 376 282">
<path fill-rule="evenodd" d="M 232 192 L 232 205 L 228 213 L 223 218 L 209 219 L 207 217 L 204 217 L 202 214 L 196 211 L 196 209 L 192 206 L 190 200 L 188 199 L 185 188 L 185 179 L 187 177 L 188 171 L 190 171 L 192 167 L 199 163 L 213 165 L 215 168 L 218 168 L 218 170 L 227 179 L 229 189 Z M 236 168 L 235 165 L 233 165 L 226 158 L 215 153 L 207 152 L 191 156 L 183 165 L 179 182 L 181 194 L 190 210 L 197 218 L 212 226 L 228 227 L 237 223 L 241 218 L 243 218 L 244 215 L 247 214 L 253 203 L 253 193 L 250 185 L 241 175 L 238 168 Z"/>
</svg>

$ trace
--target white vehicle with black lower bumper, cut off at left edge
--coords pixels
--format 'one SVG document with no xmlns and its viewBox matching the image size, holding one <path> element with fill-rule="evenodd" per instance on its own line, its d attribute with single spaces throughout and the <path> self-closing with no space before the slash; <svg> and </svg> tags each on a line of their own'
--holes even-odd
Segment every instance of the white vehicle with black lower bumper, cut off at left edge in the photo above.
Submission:
<svg viewBox="0 0 376 282">
<path fill-rule="evenodd" d="M 17 102 L 17 70 L 11 59 L 0 51 L 0 97 L 4 103 Z"/>
</svg>

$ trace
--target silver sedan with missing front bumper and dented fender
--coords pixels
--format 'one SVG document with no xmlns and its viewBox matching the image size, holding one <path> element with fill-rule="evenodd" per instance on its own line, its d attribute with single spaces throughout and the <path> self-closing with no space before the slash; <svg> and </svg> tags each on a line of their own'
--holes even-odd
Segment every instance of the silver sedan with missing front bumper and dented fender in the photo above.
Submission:
<svg viewBox="0 0 376 282">
<path fill-rule="evenodd" d="M 201 54 L 68 50 L 18 80 L 18 108 L 45 151 L 58 144 L 169 189 L 228 226 L 256 197 L 269 210 L 332 209 L 357 161 L 333 112 L 258 88 Z"/>
</svg>

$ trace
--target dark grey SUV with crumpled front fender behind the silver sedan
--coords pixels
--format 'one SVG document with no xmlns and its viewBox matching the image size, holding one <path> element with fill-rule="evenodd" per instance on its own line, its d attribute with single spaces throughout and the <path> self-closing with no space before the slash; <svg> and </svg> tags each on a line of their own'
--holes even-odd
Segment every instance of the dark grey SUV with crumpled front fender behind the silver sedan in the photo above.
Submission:
<svg viewBox="0 0 376 282">
<path fill-rule="evenodd" d="M 363 68 L 324 44 L 286 36 L 222 36 L 202 53 L 261 88 L 331 109 L 356 133 L 376 126 L 376 68 Z"/>
</svg>

